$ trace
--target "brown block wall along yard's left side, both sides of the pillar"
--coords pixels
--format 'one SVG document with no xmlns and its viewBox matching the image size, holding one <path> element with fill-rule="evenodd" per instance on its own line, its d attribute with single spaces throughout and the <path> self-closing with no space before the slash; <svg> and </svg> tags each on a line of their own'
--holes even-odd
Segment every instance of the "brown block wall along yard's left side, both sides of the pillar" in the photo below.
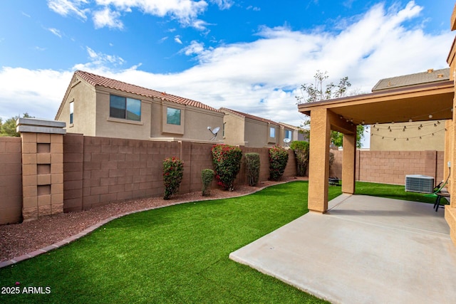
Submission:
<svg viewBox="0 0 456 304">
<path fill-rule="evenodd" d="M 213 145 L 63 135 L 63 211 L 82 211 L 112 201 L 163 196 L 162 162 L 166 157 L 179 157 L 185 162 L 180 193 L 199 192 L 202 169 L 213 168 Z M 0 224 L 23 219 L 23 150 L 21 138 L 0 137 Z M 241 147 L 241 150 L 243 154 L 259 153 L 260 181 L 267 180 L 268 149 Z M 294 153 L 289 151 L 284 177 L 295 174 Z M 235 186 L 239 184 L 247 184 L 244 162 L 234 181 Z M 217 187 L 216 182 L 213 187 Z"/>
</svg>

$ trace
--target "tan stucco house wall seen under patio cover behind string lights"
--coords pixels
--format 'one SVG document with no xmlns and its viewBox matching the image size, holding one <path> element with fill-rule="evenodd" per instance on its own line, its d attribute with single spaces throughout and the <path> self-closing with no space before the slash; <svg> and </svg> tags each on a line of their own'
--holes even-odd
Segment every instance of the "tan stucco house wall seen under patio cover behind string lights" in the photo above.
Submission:
<svg viewBox="0 0 456 304">
<path fill-rule="evenodd" d="M 371 126 L 371 151 L 443 151 L 444 149 L 444 120 Z"/>
</svg>

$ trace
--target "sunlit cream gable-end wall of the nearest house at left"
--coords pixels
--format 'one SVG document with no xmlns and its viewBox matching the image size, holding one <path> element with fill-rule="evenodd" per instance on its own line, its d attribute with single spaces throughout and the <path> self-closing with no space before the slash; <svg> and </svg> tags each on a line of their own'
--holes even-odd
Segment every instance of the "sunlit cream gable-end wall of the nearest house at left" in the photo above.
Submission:
<svg viewBox="0 0 456 304">
<path fill-rule="evenodd" d="M 73 78 L 73 80 L 75 80 Z M 95 136 L 95 88 L 83 80 L 73 82 L 56 120 L 66 122 L 66 132 Z M 73 124 L 70 103 L 73 102 Z"/>
</svg>

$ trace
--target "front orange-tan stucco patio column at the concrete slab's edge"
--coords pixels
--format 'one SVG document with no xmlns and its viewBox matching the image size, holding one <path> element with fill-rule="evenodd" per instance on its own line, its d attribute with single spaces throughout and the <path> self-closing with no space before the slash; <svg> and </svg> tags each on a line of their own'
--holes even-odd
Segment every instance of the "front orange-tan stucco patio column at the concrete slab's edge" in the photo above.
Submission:
<svg viewBox="0 0 456 304">
<path fill-rule="evenodd" d="M 309 196 L 310 211 L 328 210 L 329 140 L 331 126 L 328 110 L 311 111 Z"/>
</svg>

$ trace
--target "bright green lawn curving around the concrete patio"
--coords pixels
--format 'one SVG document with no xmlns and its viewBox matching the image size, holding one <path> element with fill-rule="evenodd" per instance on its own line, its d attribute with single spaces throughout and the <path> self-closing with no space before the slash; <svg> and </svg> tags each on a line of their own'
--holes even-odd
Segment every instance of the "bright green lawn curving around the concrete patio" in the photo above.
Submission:
<svg viewBox="0 0 456 304">
<path fill-rule="evenodd" d="M 116 219 L 61 249 L 1 268 L 0 287 L 18 281 L 21 291 L 51 293 L 0 294 L 0 303 L 326 303 L 228 258 L 305 214 L 307 186 L 291 182 Z M 340 193 L 329 187 L 328 197 Z M 357 194 L 412 198 L 403 187 L 367 183 L 357 184 Z"/>
</svg>

